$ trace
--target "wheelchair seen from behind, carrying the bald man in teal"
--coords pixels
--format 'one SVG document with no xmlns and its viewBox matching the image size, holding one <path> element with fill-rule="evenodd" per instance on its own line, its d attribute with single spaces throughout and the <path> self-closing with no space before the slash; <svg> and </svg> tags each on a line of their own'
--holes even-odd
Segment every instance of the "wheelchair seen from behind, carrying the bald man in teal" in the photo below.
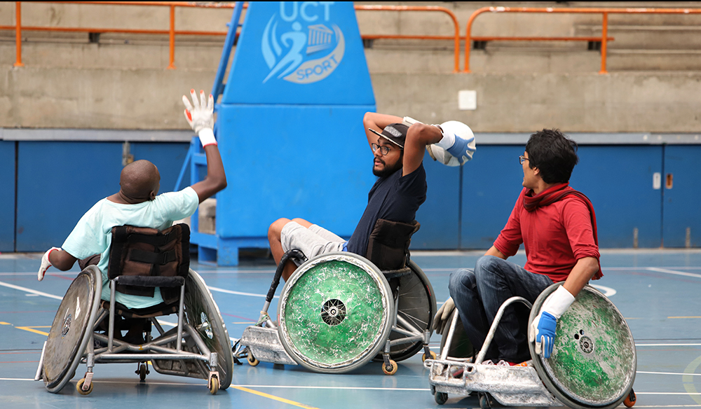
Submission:
<svg viewBox="0 0 701 409">
<path fill-rule="evenodd" d="M 229 333 L 219 308 L 200 275 L 189 268 L 189 228 L 166 230 L 119 226 L 112 229 L 108 268 L 110 300 L 100 299 L 102 273 L 88 265 L 73 280 L 41 350 L 34 380 L 57 393 L 71 380 L 79 363 L 87 372 L 76 384 L 82 395 L 93 391 L 95 363 L 137 363 L 144 381 L 154 370 L 167 375 L 207 380 L 211 394 L 231 384 L 233 356 Z M 116 303 L 116 291 L 153 296 L 164 302 L 128 309 Z M 177 314 L 168 331 L 156 317 Z M 130 326 L 126 337 L 121 327 Z M 158 335 L 153 338 L 151 325 Z M 128 338 L 133 328 L 137 336 Z"/>
</svg>

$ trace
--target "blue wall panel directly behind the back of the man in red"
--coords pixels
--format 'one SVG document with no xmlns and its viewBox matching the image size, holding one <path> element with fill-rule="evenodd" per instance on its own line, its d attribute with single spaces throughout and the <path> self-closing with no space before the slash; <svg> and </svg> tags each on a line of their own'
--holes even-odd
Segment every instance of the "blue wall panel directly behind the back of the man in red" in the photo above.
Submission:
<svg viewBox="0 0 701 409">
<path fill-rule="evenodd" d="M 570 185 L 587 195 L 597 212 L 599 247 L 660 247 L 662 146 L 580 146 Z"/>
</svg>

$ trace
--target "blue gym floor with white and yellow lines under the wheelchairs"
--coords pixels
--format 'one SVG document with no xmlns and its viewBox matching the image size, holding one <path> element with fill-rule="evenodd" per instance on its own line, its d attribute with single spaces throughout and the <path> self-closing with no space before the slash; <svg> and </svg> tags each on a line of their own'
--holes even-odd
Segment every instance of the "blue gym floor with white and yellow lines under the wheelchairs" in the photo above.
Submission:
<svg viewBox="0 0 701 409">
<path fill-rule="evenodd" d="M 472 267 L 483 252 L 414 252 L 436 298 L 448 296 L 448 276 Z M 593 282 L 626 317 L 636 341 L 636 408 L 701 407 L 701 250 L 603 250 L 604 278 Z M 77 267 L 50 269 L 36 281 L 41 254 L 0 255 L 0 404 L 2 408 L 436 408 L 421 355 L 400 362 L 394 376 L 379 363 L 343 375 L 311 373 L 299 366 L 235 366 L 226 391 L 209 394 L 206 381 L 161 375 L 145 382 L 136 364 L 95 366 L 95 389 L 80 396 L 76 377 L 60 394 L 34 382 L 41 346 Z M 525 263 L 519 253 L 511 259 Z M 210 286 L 232 338 L 257 320 L 274 265 L 252 261 L 238 268 L 191 265 Z M 280 287 L 281 289 L 281 287 Z M 278 290 L 279 293 L 279 290 Z M 277 300 L 271 305 L 271 315 Z M 175 316 L 173 316 L 175 317 Z M 175 321 L 167 317 L 165 321 Z M 438 352 L 440 338 L 431 347 Z M 444 408 L 479 408 L 476 397 L 449 396 Z"/>
</svg>

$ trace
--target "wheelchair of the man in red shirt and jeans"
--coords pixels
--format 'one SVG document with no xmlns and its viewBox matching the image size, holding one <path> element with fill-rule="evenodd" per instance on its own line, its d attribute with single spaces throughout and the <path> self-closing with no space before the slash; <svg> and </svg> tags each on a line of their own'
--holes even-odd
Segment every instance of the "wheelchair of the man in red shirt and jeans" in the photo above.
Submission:
<svg viewBox="0 0 701 409">
<path fill-rule="evenodd" d="M 624 403 L 632 407 L 636 401 L 632 387 L 637 367 L 632 334 L 615 305 L 589 285 L 557 321 L 549 359 L 536 354 L 533 342 L 529 342 L 532 361 L 525 366 L 482 364 L 506 307 L 523 303 L 531 308 L 528 328 L 532 331 L 531 322 L 545 299 L 562 284 L 547 287 L 532 306 L 522 297 L 506 300 L 475 359 L 449 356 L 456 353 L 456 341 L 465 342 L 458 311 L 454 310 L 440 357 L 424 362 L 430 370 L 429 384 L 436 403 L 445 403 L 449 393 L 465 396 L 477 392 L 482 409 L 491 408 L 492 398 L 505 406 L 564 404 L 574 409 L 612 409 Z M 470 345 L 463 351 L 471 349 Z"/>
</svg>

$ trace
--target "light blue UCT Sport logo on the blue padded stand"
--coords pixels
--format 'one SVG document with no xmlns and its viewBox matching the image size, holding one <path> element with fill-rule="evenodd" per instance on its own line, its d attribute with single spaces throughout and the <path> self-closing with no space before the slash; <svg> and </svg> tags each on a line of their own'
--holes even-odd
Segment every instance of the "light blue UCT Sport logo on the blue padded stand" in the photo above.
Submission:
<svg viewBox="0 0 701 409">
<path fill-rule="evenodd" d="M 261 41 L 263 58 L 270 69 L 263 83 L 281 78 L 309 84 L 334 72 L 343 59 L 346 41 L 341 29 L 329 23 L 333 4 L 280 1 L 280 18 L 273 14 L 268 20 Z"/>
</svg>

